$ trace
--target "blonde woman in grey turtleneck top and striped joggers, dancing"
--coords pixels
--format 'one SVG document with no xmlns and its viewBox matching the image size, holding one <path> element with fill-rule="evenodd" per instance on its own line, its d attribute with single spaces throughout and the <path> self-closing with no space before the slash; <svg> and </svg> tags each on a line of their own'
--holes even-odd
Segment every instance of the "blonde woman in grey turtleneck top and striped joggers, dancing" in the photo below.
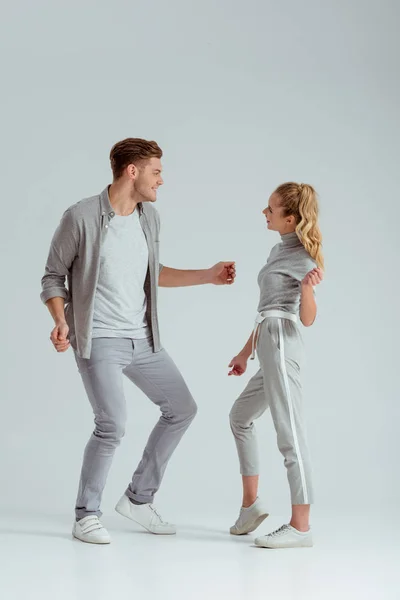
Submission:
<svg viewBox="0 0 400 600">
<path fill-rule="evenodd" d="M 243 480 L 243 505 L 231 533 L 250 533 L 268 516 L 257 496 L 254 420 L 269 407 L 285 459 L 292 518 L 289 525 L 255 543 L 265 548 L 312 546 L 309 516 L 313 491 L 302 415 L 303 343 L 297 320 L 299 315 L 306 327 L 313 324 L 317 313 L 314 287 L 323 277 L 316 193 L 310 185 L 284 183 L 272 194 L 263 214 L 268 229 L 281 235 L 281 243 L 274 246 L 258 277 L 260 303 L 254 331 L 229 365 L 229 375 L 243 375 L 257 348 L 260 370 L 230 414 Z"/>
</svg>

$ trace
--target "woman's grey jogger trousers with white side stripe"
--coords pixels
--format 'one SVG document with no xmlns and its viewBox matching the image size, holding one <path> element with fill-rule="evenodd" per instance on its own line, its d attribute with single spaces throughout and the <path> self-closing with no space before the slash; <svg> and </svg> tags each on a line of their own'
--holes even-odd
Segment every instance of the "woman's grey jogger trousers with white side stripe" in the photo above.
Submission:
<svg viewBox="0 0 400 600">
<path fill-rule="evenodd" d="M 295 323 L 267 318 L 258 330 L 260 370 L 236 400 L 230 422 L 242 475 L 258 475 L 254 420 L 269 407 L 284 457 L 292 504 L 312 504 L 310 459 L 302 415 L 303 342 Z"/>
</svg>

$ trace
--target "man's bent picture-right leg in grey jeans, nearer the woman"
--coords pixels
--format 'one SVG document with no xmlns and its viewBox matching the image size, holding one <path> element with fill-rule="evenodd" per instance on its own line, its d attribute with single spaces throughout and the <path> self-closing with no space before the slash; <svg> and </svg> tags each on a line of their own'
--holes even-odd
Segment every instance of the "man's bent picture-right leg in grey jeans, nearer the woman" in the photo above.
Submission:
<svg viewBox="0 0 400 600">
<path fill-rule="evenodd" d="M 197 406 L 173 360 L 164 349 L 154 353 L 151 340 L 134 340 L 133 361 L 124 374 L 161 410 L 126 490 L 134 502 L 151 503 L 172 453 L 196 415 Z"/>
</svg>

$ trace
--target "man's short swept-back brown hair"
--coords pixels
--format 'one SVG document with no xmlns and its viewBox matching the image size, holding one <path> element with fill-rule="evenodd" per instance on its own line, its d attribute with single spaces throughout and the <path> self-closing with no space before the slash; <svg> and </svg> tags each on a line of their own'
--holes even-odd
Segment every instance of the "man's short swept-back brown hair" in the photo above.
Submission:
<svg viewBox="0 0 400 600">
<path fill-rule="evenodd" d="M 140 138 L 126 138 L 121 142 L 117 142 L 110 152 L 114 179 L 119 179 L 128 165 L 137 165 L 141 161 L 161 157 L 162 150 L 156 142 L 149 142 Z"/>
</svg>

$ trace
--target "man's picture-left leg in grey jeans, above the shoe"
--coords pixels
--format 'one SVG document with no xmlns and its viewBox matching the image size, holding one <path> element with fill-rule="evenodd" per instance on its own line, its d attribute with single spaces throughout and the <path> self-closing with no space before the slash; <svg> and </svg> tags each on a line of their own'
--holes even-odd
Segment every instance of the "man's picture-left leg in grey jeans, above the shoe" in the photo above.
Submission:
<svg viewBox="0 0 400 600">
<path fill-rule="evenodd" d="M 122 371 L 132 362 L 132 356 L 131 340 L 99 338 L 93 340 L 90 359 L 76 357 L 95 420 L 95 429 L 84 453 L 76 501 L 77 519 L 101 516 L 101 496 L 115 449 L 125 430 Z"/>
</svg>

